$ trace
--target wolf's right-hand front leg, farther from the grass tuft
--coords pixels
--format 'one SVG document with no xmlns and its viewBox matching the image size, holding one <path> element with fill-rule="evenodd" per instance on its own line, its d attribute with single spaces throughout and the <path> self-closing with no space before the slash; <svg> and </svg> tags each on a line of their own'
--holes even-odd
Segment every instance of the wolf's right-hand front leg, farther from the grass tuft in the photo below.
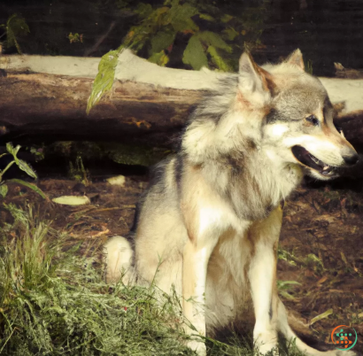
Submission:
<svg viewBox="0 0 363 356">
<path fill-rule="evenodd" d="M 282 223 L 279 207 L 265 221 L 252 225 L 249 238 L 252 244 L 249 280 L 256 324 L 253 339 L 259 352 L 277 349 L 276 247 Z"/>
</svg>

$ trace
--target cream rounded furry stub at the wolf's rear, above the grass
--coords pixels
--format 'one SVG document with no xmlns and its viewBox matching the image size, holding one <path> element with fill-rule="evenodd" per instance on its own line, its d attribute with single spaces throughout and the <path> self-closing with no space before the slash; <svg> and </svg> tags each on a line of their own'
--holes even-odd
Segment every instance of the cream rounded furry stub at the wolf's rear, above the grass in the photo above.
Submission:
<svg viewBox="0 0 363 356">
<path fill-rule="evenodd" d="M 135 282 L 132 261 L 134 251 L 125 237 L 113 236 L 104 244 L 104 259 L 107 266 L 106 282 L 122 282 L 130 284 Z"/>
</svg>

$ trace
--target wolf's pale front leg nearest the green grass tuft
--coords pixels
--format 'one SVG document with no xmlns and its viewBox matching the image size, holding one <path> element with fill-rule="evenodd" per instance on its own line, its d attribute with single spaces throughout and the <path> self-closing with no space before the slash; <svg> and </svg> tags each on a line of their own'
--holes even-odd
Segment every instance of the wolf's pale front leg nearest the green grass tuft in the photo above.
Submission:
<svg viewBox="0 0 363 356">
<path fill-rule="evenodd" d="M 205 337 L 205 281 L 208 261 L 215 244 L 212 241 L 203 243 L 189 239 L 183 251 L 183 313 L 187 325 L 190 325 L 186 328 L 189 335 Z M 195 337 L 188 345 L 199 356 L 206 354 L 202 338 Z"/>
</svg>

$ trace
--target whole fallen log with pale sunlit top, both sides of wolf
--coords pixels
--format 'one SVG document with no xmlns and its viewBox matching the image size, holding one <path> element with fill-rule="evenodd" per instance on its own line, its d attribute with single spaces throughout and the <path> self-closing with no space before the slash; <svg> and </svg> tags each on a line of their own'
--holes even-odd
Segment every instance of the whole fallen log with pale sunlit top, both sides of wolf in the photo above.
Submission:
<svg viewBox="0 0 363 356">
<path fill-rule="evenodd" d="M 125 50 L 112 91 L 87 115 L 98 62 L 99 58 L 0 57 L 0 143 L 105 140 L 173 147 L 189 112 L 225 75 L 159 67 Z M 363 145 L 363 80 L 321 81 L 333 102 L 345 101 L 347 113 L 337 119 L 338 125 L 349 140 Z"/>
</svg>

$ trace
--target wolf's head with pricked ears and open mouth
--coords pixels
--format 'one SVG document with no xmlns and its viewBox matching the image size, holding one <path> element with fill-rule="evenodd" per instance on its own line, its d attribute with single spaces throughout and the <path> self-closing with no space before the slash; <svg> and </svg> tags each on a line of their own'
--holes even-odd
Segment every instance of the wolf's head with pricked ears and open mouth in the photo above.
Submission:
<svg viewBox="0 0 363 356">
<path fill-rule="evenodd" d="M 357 152 L 334 126 L 326 89 L 305 73 L 300 50 L 263 67 L 243 53 L 238 83 L 240 110 L 262 113 L 257 141 L 271 159 L 297 163 L 322 180 L 336 176 L 336 167 L 357 163 Z"/>
</svg>

